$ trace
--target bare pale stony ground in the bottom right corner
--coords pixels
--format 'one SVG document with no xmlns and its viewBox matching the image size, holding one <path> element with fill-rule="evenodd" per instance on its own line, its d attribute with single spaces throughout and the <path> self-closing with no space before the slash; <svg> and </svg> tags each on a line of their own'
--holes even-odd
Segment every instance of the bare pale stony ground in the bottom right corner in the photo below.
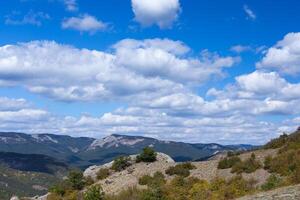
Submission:
<svg viewBox="0 0 300 200">
<path fill-rule="evenodd" d="M 269 192 L 262 192 L 245 196 L 238 200 L 299 200 L 300 185 L 278 188 Z"/>
</svg>

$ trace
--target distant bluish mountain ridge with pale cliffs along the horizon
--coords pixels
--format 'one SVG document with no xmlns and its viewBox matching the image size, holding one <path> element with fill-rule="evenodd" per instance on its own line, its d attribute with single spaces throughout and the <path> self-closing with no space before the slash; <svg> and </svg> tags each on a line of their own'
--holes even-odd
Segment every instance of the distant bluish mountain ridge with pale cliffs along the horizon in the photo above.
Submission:
<svg viewBox="0 0 300 200">
<path fill-rule="evenodd" d="M 120 155 L 140 152 L 145 146 L 170 155 L 175 161 L 201 160 L 228 150 L 249 150 L 251 145 L 189 144 L 141 136 L 110 135 L 102 139 L 63 135 L 0 132 L 0 151 L 44 154 L 71 166 L 86 168 Z"/>
</svg>

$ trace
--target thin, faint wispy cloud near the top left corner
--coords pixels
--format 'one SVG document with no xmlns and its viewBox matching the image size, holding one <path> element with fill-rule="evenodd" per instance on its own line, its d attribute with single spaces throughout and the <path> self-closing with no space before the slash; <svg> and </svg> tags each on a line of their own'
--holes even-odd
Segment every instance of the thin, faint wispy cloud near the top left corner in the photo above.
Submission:
<svg viewBox="0 0 300 200">
<path fill-rule="evenodd" d="M 43 12 L 29 11 L 26 15 L 21 16 L 20 13 L 14 12 L 11 15 L 5 16 L 5 24 L 8 25 L 35 25 L 41 26 L 43 21 L 49 20 L 50 16 Z"/>
</svg>

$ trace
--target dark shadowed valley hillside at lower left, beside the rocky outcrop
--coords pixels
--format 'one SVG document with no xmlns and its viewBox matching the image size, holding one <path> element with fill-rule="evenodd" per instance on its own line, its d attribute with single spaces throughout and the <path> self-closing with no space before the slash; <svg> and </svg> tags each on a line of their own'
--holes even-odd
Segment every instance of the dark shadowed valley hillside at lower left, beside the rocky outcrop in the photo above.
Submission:
<svg viewBox="0 0 300 200">
<path fill-rule="evenodd" d="M 45 194 L 68 170 L 65 163 L 49 156 L 0 152 L 0 199 Z"/>
</svg>

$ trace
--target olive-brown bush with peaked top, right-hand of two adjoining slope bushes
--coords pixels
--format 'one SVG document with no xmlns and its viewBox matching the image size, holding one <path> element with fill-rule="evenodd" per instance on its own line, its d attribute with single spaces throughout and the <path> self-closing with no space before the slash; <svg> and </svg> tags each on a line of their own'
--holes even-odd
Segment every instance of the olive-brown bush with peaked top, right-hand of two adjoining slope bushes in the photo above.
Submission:
<svg viewBox="0 0 300 200">
<path fill-rule="evenodd" d="M 252 173 L 257 169 L 261 168 L 261 164 L 259 161 L 255 159 L 255 154 L 252 153 L 251 157 L 245 161 L 237 162 L 231 169 L 232 173 Z"/>
</svg>

